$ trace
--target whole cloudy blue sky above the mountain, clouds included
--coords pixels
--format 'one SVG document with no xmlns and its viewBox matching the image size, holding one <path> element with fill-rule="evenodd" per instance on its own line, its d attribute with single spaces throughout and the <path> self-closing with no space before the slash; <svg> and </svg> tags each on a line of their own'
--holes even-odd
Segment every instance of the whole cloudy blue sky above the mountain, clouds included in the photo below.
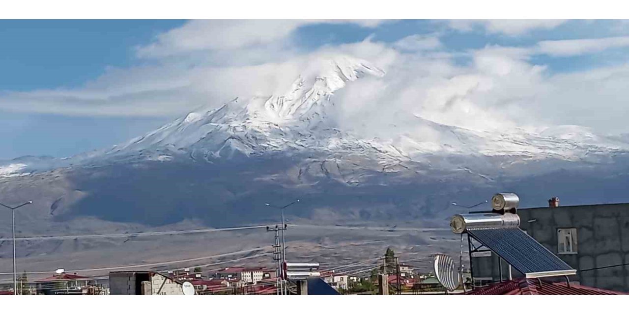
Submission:
<svg viewBox="0 0 629 314">
<path fill-rule="evenodd" d="M 627 133 L 624 121 L 597 122 L 605 116 L 588 110 L 625 114 L 628 33 L 623 21 L 3 20 L 0 160 L 121 143 L 198 106 L 265 91 L 275 66 L 301 65 L 323 51 L 398 75 L 383 78 L 395 97 L 440 89 L 467 97 L 465 111 L 445 111 L 426 93 L 396 100 L 400 110 L 440 123 L 474 128 L 486 114 L 528 112 L 527 125 Z M 269 73 L 260 74 L 261 65 Z M 413 85 L 418 77 L 421 85 Z M 452 85 L 470 77 L 489 89 Z M 391 95 L 374 102 L 383 99 Z M 470 117 L 480 122 L 464 124 Z"/>
</svg>

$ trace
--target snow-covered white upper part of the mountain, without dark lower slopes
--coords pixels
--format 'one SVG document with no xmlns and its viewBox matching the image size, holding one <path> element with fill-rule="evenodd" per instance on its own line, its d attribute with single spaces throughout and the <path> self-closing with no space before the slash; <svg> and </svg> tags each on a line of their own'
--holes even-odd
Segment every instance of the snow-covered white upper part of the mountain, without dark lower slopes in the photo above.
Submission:
<svg viewBox="0 0 629 314">
<path fill-rule="evenodd" d="M 181 155 L 210 161 L 233 154 L 265 153 L 370 154 L 383 166 L 400 161 L 426 162 L 435 156 L 511 156 L 523 160 L 557 159 L 603 162 L 629 150 L 629 142 L 594 134 L 586 127 L 553 126 L 541 130 L 473 131 L 419 116 L 403 117 L 401 129 L 412 132 L 387 138 L 364 138 L 339 127 L 334 94 L 364 76 L 384 71 L 347 56 L 330 58 L 318 72 L 297 77 L 286 92 L 234 99 L 201 107 L 185 117 L 111 149 L 62 160 L 44 158 L 0 163 L 0 176 L 17 176 L 62 166 L 115 162 L 116 158 L 169 161 Z M 140 157 L 141 156 L 141 157 Z M 438 167 L 439 165 L 433 165 Z M 445 165 L 451 166 L 451 165 Z"/>
</svg>

